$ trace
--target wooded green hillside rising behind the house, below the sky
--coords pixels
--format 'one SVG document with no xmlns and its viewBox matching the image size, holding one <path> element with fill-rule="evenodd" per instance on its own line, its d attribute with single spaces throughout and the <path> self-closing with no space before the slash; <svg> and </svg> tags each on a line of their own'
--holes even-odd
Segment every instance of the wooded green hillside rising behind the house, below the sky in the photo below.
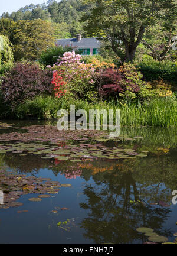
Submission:
<svg viewBox="0 0 177 256">
<path fill-rule="evenodd" d="M 57 38 L 73 38 L 77 33 L 87 36 L 83 29 L 84 22 L 79 20 L 89 12 L 91 6 L 83 4 L 80 0 L 61 0 L 60 2 L 48 0 L 46 4 L 26 5 L 11 14 L 4 12 L 1 18 L 10 18 L 15 22 L 34 19 L 50 21 L 57 24 L 56 30 L 62 31 L 61 34 L 56 34 Z"/>
</svg>

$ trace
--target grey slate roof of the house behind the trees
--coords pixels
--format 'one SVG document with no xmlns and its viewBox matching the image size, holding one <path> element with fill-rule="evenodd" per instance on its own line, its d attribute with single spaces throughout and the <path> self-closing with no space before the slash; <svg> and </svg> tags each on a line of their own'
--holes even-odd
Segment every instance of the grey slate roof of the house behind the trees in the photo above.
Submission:
<svg viewBox="0 0 177 256">
<path fill-rule="evenodd" d="M 68 39 L 57 39 L 56 44 L 58 46 L 72 46 L 72 47 L 100 47 L 101 42 L 97 40 L 96 37 L 87 37 L 87 38 L 81 38 L 79 42 L 77 42 L 76 38 L 68 38 Z"/>
</svg>

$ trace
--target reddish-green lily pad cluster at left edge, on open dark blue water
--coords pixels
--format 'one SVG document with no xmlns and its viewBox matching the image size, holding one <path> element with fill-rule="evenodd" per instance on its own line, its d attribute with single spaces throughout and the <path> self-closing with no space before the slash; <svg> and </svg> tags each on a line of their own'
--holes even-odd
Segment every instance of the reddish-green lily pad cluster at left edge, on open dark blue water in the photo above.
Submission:
<svg viewBox="0 0 177 256">
<path fill-rule="evenodd" d="M 38 197 L 29 199 L 30 201 L 39 202 L 43 198 L 50 197 L 48 194 L 58 193 L 58 188 L 61 186 L 62 184 L 57 181 L 52 181 L 50 178 L 25 176 L 24 174 L 15 175 L 1 171 L 0 190 L 3 191 L 4 197 L 0 209 L 22 206 L 22 203 L 16 202 L 16 200 L 19 199 L 21 195 L 25 194 L 40 194 Z"/>
</svg>

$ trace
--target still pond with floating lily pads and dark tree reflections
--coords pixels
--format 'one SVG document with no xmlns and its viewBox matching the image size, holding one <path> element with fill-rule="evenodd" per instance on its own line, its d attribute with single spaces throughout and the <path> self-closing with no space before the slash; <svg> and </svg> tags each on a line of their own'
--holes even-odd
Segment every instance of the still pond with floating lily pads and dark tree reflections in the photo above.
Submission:
<svg viewBox="0 0 177 256">
<path fill-rule="evenodd" d="M 175 129 L 122 127 L 110 138 L 55 122 L 0 128 L 1 244 L 175 241 Z"/>
</svg>

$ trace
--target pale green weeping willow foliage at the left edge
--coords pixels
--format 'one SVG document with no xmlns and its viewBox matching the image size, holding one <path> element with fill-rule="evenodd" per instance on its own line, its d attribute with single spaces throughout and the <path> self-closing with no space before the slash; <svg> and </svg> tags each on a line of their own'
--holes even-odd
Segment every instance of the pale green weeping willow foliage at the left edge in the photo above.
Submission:
<svg viewBox="0 0 177 256">
<path fill-rule="evenodd" d="M 0 74 L 13 66 L 12 45 L 7 37 L 0 35 Z"/>
</svg>

